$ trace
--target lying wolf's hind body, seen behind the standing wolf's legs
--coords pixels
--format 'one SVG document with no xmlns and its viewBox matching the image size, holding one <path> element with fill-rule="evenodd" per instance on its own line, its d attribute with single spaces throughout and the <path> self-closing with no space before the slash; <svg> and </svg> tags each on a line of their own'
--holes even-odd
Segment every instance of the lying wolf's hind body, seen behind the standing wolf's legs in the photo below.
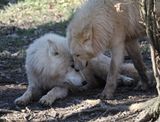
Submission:
<svg viewBox="0 0 160 122">
<path fill-rule="evenodd" d="M 97 87 L 100 83 L 104 84 L 103 82 L 109 72 L 110 63 L 111 58 L 104 54 L 93 58 L 88 63 L 87 68 L 83 70 L 84 76 L 88 81 L 88 84 L 83 86 L 83 89 Z M 123 63 L 120 66 L 119 73 L 118 82 L 120 82 L 120 84 L 136 85 L 141 80 L 133 63 Z M 155 85 L 153 72 L 148 70 L 147 75 L 149 80 L 152 81 L 150 85 Z"/>
</svg>

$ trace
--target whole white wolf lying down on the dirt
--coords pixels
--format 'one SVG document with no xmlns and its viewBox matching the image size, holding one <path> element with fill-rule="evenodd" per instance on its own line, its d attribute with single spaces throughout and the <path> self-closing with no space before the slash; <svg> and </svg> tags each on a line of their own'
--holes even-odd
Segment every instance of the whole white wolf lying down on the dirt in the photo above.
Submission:
<svg viewBox="0 0 160 122">
<path fill-rule="evenodd" d="M 26 92 L 15 100 L 16 104 L 26 105 L 41 97 L 40 103 L 51 105 L 56 99 L 66 97 L 69 90 L 74 92 L 96 87 L 96 82 L 99 81 L 97 77 L 104 80 L 109 71 L 111 59 L 103 54 L 97 56 L 89 62 L 82 75 L 73 67 L 72 56 L 66 41 L 66 38 L 50 33 L 36 39 L 29 46 L 26 57 L 29 85 Z M 132 64 L 123 64 L 120 73 L 123 74 L 120 75 L 120 79 L 125 84 L 132 83 L 133 79 L 138 78 Z M 45 91 L 49 92 L 42 96 Z"/>
</svg>

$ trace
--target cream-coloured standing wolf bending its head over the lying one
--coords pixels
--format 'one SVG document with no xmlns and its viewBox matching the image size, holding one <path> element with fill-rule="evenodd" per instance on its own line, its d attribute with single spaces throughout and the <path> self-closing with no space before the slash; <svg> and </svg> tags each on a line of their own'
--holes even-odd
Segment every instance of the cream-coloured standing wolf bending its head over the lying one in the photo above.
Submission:
<svg viewBox="0 0 160 122">
<path fill-rule="evenodd" d="M 88 0 L 71 20 L 67 37 L 76 69 L 84 69 L 90 59 L 106 48 L 111 49 L 111 64 L 101 97 L 113 97 L 125 49 L 141 76 L 141 88 L 148 87 L 146 68 L 136 40 L 145 34 L 140 21 L 138 0 Z"/>
</svg>

